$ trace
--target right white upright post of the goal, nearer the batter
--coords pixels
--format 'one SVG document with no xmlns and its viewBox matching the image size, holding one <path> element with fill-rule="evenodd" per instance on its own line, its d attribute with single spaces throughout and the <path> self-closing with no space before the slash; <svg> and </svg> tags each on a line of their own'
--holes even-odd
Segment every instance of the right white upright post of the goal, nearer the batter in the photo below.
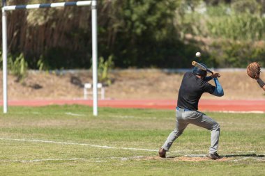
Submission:
<svg viewBox="0 0 265 176">
<path fill-rule="evenodd" d="M 93 115 L 98 115 L 98 35 L 97 1 L 91 3 L 92 10 L 92 65 L 93 65 Z"/>
</svg>

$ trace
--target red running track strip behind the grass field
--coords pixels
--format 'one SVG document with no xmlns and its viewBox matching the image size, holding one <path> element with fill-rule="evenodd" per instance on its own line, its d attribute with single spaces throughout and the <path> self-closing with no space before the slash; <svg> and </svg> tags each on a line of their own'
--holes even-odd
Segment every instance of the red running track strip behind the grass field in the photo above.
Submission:
<svg viewBox="0 0 265 176">
<path fill-rule="evenodd" d="M 82 104 L 93 106 L 92 100 L 71 99 L 71 100 L 10 100 L 8 106 L 47 106 L 52 104 Z M 0 102 L 3 106 L 3 102 Z M 98 100 L 99 107 L 114 108 L 137 108 L 137 109 L 175 109 L 176 100 L 172 99 L 105 99 Z M 259 111 L 265 112 L 265 99 L 253 100 L 215 100 L 201 99 L 199 111 Z"/>
</svg>

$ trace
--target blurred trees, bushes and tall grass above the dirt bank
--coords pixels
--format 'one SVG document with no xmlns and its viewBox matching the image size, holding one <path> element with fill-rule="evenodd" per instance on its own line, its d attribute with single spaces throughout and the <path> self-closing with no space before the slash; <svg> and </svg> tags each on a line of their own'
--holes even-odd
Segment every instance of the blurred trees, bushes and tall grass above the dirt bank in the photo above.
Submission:
<svg viewBox="0 0 265 176">
<path fill-rule="evenodd" d="M 51 2 L 58 0 L 7 1 Z M 115 67 L 180 68 L 201 51 L 211 67 L 265 65 L 264 26 L 264 0 L 102 0 L 98 56 Z M 31 69 L 89 68 L 90 8 L 8 12 L 8 49 L 10 63 L 20 58 Z"/>
</svg>

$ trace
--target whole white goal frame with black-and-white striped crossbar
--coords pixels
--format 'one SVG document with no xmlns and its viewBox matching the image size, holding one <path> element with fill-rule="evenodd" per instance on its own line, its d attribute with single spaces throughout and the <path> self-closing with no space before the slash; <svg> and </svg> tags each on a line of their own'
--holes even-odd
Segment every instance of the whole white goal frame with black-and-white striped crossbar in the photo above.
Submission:
<svg viewBox="0 0 265 176">
<path fill-rule="evenodd" d="M 91 6 L 92 19 L 92 69 L 93 69 L 93 85 L 98 85 L 98 27 L 97 27 L 97 0 L 91 1 L 74 1 L 74 2 L 60 2 L 60 3 L 39 3 L 29 5 L 7 6 L 6 0 L 2 0 L 2 47 L 3 47 L 3 113 L 8 112 L 8 86 L 7 86 L 7 17 L 6 11 L 33 9 L 33 8 L 58 8 L 66 6 Z M 98 115 L 98 89 L 93 86 L 93 115 Z"/>
</svg>

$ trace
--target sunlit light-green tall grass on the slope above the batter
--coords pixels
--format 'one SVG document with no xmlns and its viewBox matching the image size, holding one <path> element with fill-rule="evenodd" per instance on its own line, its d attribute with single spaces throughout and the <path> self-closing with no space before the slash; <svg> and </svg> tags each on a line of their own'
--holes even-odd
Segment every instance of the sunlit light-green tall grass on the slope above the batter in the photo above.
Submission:
<svg viewBox="0 0 265 176">
<path fill-rule="evenodd" d="M 204 13 L 185 13 L 182 23 L 190 24 L 189 29 L 183 30 L 194 35 L 229 40 L 265 39 L 265 17 L 239 13 L 229 6 L 209 6 Z"/>
</svg>

